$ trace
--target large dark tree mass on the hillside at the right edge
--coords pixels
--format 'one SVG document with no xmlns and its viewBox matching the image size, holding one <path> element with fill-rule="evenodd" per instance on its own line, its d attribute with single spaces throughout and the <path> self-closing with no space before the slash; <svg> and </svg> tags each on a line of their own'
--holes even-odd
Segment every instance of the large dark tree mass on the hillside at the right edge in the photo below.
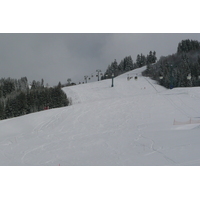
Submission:
<svg viewBox="0 0 200 200">
<path fill-rule="evenodd" d="M 166 88 L 200 86 L 200 43 L 182 40 L 175 54 L 162 56 L 157 63 L 148 64 L 143 75 Z"/>
</svg>

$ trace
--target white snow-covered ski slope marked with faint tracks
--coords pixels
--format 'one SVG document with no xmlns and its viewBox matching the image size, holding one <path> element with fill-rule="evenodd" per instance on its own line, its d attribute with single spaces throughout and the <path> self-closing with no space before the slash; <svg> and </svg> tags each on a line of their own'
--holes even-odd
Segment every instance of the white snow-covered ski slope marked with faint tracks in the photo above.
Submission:
<svg viewBox="0 0 200 200">
<path fill-rule="evenodd" d="M 0 121 L 0 165 L 200 165 L 200 87 L 169 90 L 144 69 L 114 87 L 63 88 L 71 106 Z"/>
</svg>

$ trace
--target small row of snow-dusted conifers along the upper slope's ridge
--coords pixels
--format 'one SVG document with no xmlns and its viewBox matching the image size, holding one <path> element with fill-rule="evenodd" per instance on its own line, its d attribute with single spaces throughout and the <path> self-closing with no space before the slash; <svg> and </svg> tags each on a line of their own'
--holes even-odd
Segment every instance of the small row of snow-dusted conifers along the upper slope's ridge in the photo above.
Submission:
<svg viewBox="0 0 200 200">
<path fill-rule="evenodd" d="M 124 59 L 121 60 L 119 64 L 115 59 L 110 65 L 108 65 L 108 68 L 101 79 L 103 80 L 111 78 L 112 74 L 114 75 L 114 77 L 119 76 L 120 74 L 123 74 L 130 70 L 143 67 L 147 64 L 155 63 L 156 60 L 157 57 L 155 51 L 150 51 L 147 56 L 143 55 L 142 53 L 138 54 L 135 63 L 133 62 L 131 56 L 126 56 Z"/>
</svg>

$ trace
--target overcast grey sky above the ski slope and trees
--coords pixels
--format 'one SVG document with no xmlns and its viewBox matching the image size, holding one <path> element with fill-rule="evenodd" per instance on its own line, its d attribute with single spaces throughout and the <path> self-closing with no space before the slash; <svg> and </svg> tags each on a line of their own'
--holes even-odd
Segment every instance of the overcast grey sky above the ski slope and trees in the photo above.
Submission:
<svg viewBox="0 0 200 200">
<path fill-rule="evenodd" d="M 173 54 L 183 39 L 200 41 L 200 34 L 184 33 L 1 33 L 0 78 L 44 79 L 49 85 L 68 78 L 78 83 L 97 69 L 131 55 L 156 51 L 157 58 Z"/>
</svg>

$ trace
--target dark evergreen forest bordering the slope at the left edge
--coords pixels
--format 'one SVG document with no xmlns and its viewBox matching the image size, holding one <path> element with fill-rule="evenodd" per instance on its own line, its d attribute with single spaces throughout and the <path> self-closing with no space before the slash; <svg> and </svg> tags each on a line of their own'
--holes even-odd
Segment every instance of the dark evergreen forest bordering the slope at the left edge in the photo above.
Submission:
<svg viewBox="0 0 200 200">
<path fill-rule="evenodd" d="M 28 84 L 26 77 L 19 80 L 0 79 L 0 119 L 8 119 L 49 108 L 68 106 L 69 100 L 61 89 L 45 87 L 43 79 Z"/>
</svg>

